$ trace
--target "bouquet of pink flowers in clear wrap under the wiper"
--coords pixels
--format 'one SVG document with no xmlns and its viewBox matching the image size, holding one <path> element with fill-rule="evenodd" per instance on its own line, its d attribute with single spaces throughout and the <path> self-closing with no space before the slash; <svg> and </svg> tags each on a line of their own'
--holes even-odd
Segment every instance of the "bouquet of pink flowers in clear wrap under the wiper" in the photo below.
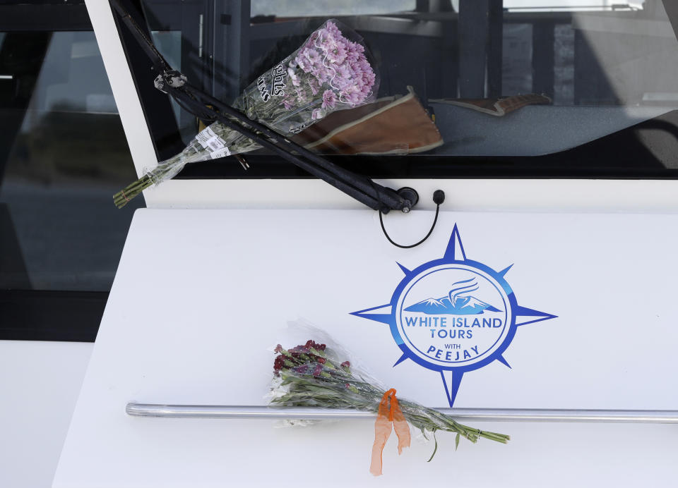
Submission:
<svg viewBox="0 0 678 488">
<path fill-rule="evenodd" d="M 283 135 L 299 133 L 336 110 L 373 102 L 379 81 L 362 39 L 337 20 L 328 20 L 301 48 L 249 85 L 233 106 Z M 151 185 L 174 177 L 187 163 L 258 149 L 256 142 L 215 122 L 181 153 L 162 161 L 114 195 L 124 207 Z"/>
</svg>

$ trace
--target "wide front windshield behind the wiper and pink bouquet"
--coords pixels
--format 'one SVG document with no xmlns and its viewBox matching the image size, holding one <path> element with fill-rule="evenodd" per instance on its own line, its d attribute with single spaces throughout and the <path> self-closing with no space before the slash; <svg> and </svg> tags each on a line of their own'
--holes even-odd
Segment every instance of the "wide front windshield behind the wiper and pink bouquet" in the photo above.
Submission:
<svg viewBox="0 0 678 488">
<path fill-rule="evenodd" d="M 354 171 L 391 178 L 678 174 L 678 8 L 670 1 L 206 5 L 143 0 L 136 15 L 174 68 L 224 102 L 236 101 L 330 18 L 364 39 L 379 82 L 370 101 L 377 102 L 328 114 L 300 138 Z M 148 59 L 123 37 L 158 158 L 167 159 L 201 126 L 155 90 Z M 266 120 L 271 109 L 263 111 L 257 116 Z M 227 157 L 187 165 L 179 178 L 305 176 L 264 150 L 243 156 L 247 171 Z"/>
</svg>

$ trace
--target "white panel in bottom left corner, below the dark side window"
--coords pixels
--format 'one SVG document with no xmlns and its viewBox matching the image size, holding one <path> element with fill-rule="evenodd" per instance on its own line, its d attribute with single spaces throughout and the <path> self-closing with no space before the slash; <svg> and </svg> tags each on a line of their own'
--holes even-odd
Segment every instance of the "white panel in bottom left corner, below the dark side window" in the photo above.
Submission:
<svg viewBox="0 0 678 488">
<path fill-rule="evenodd" d="M 93 346 L 0 341 L 0 487 L 52 486 Z"/>
</svg>

